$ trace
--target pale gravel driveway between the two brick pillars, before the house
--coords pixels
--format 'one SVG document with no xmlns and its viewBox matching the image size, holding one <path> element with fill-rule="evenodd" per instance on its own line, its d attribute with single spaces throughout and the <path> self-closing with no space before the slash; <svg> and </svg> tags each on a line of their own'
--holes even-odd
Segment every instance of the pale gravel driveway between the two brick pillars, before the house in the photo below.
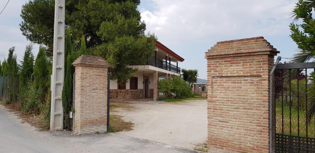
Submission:
<svg viewBox="0 0 315 153">
<path fill-rule="evenodd" d="M 207 140 L 206 100 L 162 104 L 133 101 L 129 105 L 135 109 L 119 108 L 111 113 L 135 124 L 134 130 L 119 134 L 188 149 Z"/>
</svg>

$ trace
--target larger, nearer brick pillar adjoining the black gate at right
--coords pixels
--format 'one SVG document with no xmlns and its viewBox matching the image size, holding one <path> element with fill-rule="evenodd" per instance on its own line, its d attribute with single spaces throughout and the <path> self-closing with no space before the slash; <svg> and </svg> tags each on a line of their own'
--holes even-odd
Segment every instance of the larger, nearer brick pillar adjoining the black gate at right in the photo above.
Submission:
<svg viewBox="0 0 315 153">
<path fill-rule="evenodd" d="M 279 51 L 263 37 L 205 53 L 209 152 L 269 152 L 269 73 Z"/>
</svg>

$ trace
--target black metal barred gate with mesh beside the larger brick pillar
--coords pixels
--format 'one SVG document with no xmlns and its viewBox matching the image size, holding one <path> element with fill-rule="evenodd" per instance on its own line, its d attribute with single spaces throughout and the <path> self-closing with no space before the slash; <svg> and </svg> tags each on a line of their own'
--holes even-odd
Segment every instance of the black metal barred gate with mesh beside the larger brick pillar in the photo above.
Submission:
<svg viewBox="0 0 315 153">
<path fill-rule="evenodd" d="M 275 152 L 315 152 L 315 62 L 278 64 L 274 73 Z"/>
</svg>

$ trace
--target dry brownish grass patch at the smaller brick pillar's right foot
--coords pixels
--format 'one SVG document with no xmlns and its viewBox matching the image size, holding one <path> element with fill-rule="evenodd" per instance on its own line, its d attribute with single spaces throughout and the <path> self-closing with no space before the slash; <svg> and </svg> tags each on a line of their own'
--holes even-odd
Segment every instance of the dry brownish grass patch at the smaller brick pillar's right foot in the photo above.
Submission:
<svg viewBox="0 0 315 153">
<path fill-rule="evenodd" d="M 125 122 L 121 119 L 122 116 L 110 115 L 109 116 L 109 130 L 107 133 L 120 132 L 120 131 L 130 131 L 134 126 L 132 122 Z"/>
</svg>

